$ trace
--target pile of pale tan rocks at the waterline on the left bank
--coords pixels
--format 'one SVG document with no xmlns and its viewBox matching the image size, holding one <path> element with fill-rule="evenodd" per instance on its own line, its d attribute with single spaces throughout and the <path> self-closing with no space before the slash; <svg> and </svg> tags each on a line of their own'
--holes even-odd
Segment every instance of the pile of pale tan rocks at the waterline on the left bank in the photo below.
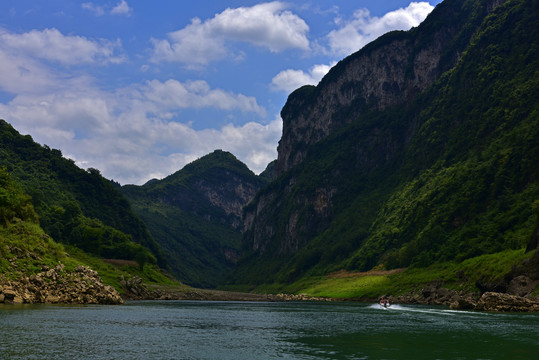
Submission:
<svg viewBox="0 0 539 360">
<path fill-rule="evenodd" d="M 79 265 L 69 272 L 60 264 L 18 280 L 0 278 L 0 303 L 122 304 L 123 299 L 96 271 Z"/>
</svg>

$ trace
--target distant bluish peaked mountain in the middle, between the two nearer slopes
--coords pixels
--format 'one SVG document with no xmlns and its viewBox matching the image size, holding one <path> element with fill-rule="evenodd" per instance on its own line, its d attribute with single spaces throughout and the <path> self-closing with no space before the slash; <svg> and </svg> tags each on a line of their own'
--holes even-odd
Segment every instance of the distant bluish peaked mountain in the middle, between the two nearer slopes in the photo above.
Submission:
<svg viewBox="0 0 539 360">
<path fill-rule="evenodd" d="M 243 207 L 266 182 L 234 155 L 216 150 L 163 180 L 126 185 L 122 192 L 174 275 L 189 285 L 215 287 L 239 257 Z"/>
</svg>

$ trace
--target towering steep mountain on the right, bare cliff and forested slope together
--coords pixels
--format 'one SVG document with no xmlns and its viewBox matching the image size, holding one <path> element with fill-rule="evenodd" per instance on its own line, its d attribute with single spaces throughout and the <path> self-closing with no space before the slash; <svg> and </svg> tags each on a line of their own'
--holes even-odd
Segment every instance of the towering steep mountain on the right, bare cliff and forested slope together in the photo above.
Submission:
<svg viewBox="0 0 539 360">
<path fill-rule="evenodd" d="M 277 178 L 245 208 L 231 282 L 425 267 L 531 243 L 538 4 L 446 0 L 293 92 Z"/>
</svg>

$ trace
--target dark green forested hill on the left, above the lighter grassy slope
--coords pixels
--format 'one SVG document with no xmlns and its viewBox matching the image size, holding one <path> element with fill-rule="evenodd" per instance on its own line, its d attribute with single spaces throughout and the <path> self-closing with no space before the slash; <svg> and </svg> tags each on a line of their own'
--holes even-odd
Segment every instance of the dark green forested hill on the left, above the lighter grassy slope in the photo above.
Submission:
<svg viewBox="0 0 539 360">
<path fill-rule="evenodd" d="M 0 167 L 30 195 L 39 224 L 55 241 L 102 258 L 157 262 L 161 251 L 116 186 L 82 170 L 60 150 L 35 143 L 0 120 Z"/>
</svg>

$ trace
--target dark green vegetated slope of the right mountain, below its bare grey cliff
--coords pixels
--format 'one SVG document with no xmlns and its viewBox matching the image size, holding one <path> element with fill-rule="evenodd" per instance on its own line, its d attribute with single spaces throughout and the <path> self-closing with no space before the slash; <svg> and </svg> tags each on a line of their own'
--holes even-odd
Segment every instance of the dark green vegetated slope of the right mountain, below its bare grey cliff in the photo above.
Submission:
<svg viewBox="0 0 539 360">
<path fill-rule="evenodd" d="M 492 5 L 444 4 L 474 14 Z M 472 16 L 455 39 L 469 39 L 459 61 L 430 88 L 343 120 L 349 124 L 306 147 L 303 161 L 246 208 L 255 220 L 234 281 L 283 285 L 341 269 L 426 268 L 525 248 L 539 199 L 536 10 L 511 0 L 480 22 Z M 312 101 L 308 90 L 294 94 L 298 106 L 298 96 Z"/>
</svg>

